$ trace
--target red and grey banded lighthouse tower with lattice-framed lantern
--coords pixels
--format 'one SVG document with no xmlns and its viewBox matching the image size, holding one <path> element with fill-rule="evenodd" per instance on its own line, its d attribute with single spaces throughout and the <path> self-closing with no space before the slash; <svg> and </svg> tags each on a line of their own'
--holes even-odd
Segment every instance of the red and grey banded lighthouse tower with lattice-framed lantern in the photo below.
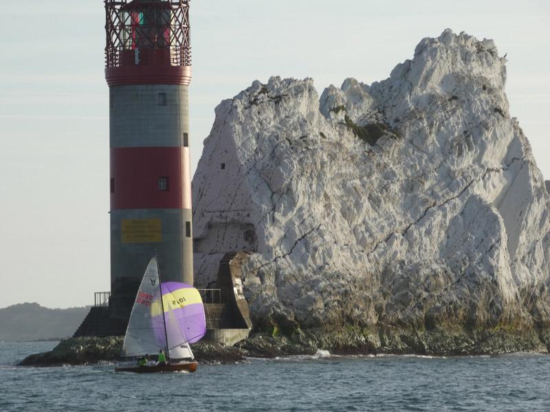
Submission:
<svg viewBox="0 0 550 412">
<path fill-rule="evenodd" d="M 111 317 L 129 315 L 151 256 L 193 284 L 188 0 L 105 0 Z"/>
</svg>

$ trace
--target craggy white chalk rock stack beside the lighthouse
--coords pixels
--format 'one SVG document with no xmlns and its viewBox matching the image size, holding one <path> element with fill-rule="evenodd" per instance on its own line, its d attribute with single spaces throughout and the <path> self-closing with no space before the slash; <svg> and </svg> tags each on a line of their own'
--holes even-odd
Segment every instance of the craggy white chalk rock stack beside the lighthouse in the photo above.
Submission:
<svg viewBox="0 0 550 412">
<path fill-rule="evenodd" d="M 311 79 L 273 77 L 223 100 L 193 179 L 197 284 L 248 251 L 256 326 L 346 325 L 379 347 L 545 328 L 550 197 L 505 62 L 445 30 L 381 82 L 319 98 Z"/>
</svg>

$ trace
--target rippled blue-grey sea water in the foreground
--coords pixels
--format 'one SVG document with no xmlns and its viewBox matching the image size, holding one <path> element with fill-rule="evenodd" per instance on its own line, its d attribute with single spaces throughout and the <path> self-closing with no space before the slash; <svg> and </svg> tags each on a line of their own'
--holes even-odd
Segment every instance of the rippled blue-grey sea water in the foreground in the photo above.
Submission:
<svg viewBox="0 0 550 412">
<path fill-rule="evenodd" d="M 0 411 L 550 411 L 550 356 L 296 356 L 199 365 L 17 367 L 56 342 L 0 343 Z"/>
</svg>

